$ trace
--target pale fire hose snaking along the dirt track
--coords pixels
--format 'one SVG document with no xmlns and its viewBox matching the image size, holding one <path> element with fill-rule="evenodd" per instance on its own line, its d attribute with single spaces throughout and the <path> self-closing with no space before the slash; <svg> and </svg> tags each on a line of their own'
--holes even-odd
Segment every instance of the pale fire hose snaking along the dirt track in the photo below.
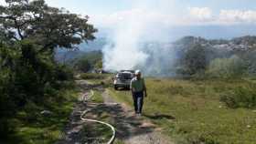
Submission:
<svg viewBox="0 0 256 144">
<path fill-rule="evenodd" d="M 89 95 L 89 94 L 84 94 L 84 95 L 82 96 L 82 102 L 83 102 L 84 104 L 87 104 L 88 100 L 90 100 L 90 99 L 93 97 L 93 95 L 94 95 L 93 90 L 91 90 L 91 94 L 90 94 L 89 96 L 88 96 L 88 95 Z M 91 104 L 95 104 L 95 103 L 91 103 Z M 103 105 L 103 104 L 97 103 L 97 105 Z M 80 115 L 80 119 L 81 119 L 82 121 L 88 121 L 88 122 L 99 123 L 99 124 L 101 124 L 101 125 L 107 126 L 108 128 L 112 129 L 112 138 L 107 142 L 107 144 L 112 144 L 113 141 L 114 141 L 114 139 L 115 139 L 115 134 L 116 134 L 116 131 L 115 131 L 114 127 L 113 127 L 111 124 L 109 124 L 109 123 L 107 123 L 107 122 L 104 122 L 104 121 L 100 121 L 100 120 L 96 120 L 96 119 L 90 119 L 90 118 L 84 118 L 87 113 L 91 112 L 91 110 L 92 110 L 92 109 L 83 111 L 83 112 L 81 113 L 81 115 Z"/>
</svg>

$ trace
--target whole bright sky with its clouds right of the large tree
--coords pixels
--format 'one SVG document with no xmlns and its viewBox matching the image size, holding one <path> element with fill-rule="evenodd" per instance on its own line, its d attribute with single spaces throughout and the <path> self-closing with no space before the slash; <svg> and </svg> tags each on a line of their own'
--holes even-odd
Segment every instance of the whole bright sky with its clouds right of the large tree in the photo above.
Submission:
<svg viewBox="0 0 256 144">
<path fill-rule="evenodd" d="M 90 15 L 96 25 L 119 23 L 125 17 L 145 15 L 169 25 L 254 25 L 255 0 L 46 0 L 48 5 L 65 7 Z M 154 17 L 155 16 L 155 17 Z M 161 17 L 162 20 L 160 18 Z"/>
</svg>

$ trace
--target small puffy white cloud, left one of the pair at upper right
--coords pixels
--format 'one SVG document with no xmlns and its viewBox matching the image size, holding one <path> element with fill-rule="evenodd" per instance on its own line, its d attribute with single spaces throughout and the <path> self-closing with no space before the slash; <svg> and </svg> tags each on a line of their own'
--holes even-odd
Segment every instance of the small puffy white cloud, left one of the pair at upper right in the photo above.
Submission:
<svg viewBox="0 0 256 144">
<path fill-rule="evenodd" d="M 188 7 L 189 15 L 197 20 L 209 20 L 212 18 L 212 11 L 208 7 Z"/>
</svg>

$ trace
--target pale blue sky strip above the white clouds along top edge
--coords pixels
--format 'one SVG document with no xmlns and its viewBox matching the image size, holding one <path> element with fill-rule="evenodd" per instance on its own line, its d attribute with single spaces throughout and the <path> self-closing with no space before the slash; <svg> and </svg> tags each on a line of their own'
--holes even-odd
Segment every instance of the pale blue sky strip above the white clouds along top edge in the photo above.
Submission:
<svg viewBox="0 0 256 144">
<path fill-rule="evenodd" d="M 46 0 L 49 5 L 62 6 L 76 12 L 88 14 L 111 14 L 133 8 L 135 0 Z M 139 0 L 140 1 L 140 0 Z M 145 4 L 156 4 L 161 0 L 142 0 Z M 221 9 L 256 10 L 255 0 L 176 0 L 176 6 L 186 8 L 210 7 Z"/>
</svg>

